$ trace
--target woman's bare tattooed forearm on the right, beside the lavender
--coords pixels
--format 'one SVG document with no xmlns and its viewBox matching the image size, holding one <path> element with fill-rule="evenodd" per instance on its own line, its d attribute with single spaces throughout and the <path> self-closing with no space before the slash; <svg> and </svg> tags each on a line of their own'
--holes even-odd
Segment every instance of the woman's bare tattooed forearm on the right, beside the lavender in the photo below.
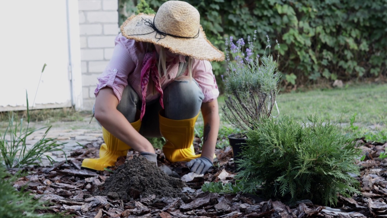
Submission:
<svg viewBox="0 0 387 218">
<path fill-rule="evenodd" d="M 212 102 L 202 103 L 202 115 L 204 120 L 202 157 L 214 160 L 217 135 L 219 131 L 219 107 L 217 99 Z"/>
</svg>

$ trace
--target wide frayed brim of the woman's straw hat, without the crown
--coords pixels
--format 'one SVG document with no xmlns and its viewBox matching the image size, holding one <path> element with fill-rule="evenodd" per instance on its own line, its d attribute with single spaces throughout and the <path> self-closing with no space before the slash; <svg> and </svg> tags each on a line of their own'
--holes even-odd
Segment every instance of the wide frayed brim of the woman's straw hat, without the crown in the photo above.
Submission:
<svg viewBox="0 0 387 218">
<path fill-rule="evenodd" d="M 153 17 L 154 14 L 148 15 L 143 13 L 130 16 L 121 25 L 122 35 L 128 39 L 160 45 L 168 48 L 173 53 L 194 59 L 224 61 L 224 53 L 207 40 L 201 25 L 197 38 L 178 38 L 169 35 L 166 35 L 164 38 L 164 36 L 156 35 L 156 31 L 151 26 L 145 24 L 144 20 L 153 22 Z"/>
</svg>

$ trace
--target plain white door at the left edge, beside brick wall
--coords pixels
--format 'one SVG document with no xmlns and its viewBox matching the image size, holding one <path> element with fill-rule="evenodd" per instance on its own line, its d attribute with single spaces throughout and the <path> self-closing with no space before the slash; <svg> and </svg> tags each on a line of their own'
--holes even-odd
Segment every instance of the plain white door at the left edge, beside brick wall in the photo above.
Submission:
<svg viewBox="0 0 387 218">
<path fill-rule="evenodd" d="M 26 90 L 30 108 L 70 107 L 66 1 L 1 0 L 0 23 L 0 111 L 26 109 Z"/>
</svg>

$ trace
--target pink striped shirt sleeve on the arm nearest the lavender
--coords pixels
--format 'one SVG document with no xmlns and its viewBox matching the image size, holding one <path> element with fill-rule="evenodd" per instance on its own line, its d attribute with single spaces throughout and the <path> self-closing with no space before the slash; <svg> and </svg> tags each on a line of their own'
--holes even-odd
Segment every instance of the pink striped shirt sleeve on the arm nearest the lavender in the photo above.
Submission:
<svg viewBox="0 0 387 218">
<path fill-rule="evenodd" d="M 192 77 L 197 81 L 204 94 L 203 102 L 212 102 L 219 96 L 219 89 L 209 61 L 194 60 Z"/>
</svg>

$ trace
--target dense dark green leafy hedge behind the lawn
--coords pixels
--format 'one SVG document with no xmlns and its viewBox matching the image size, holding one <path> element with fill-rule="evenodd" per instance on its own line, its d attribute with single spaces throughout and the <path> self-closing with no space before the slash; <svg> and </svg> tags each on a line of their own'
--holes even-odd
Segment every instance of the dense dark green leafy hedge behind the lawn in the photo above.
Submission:
<svg viewBox="0 0 387 218">
<path fill-rule="evenodd" d="M 165 0 L 146 0 L 157 11 Z M 281 44 L 284 83 L 375 77 L 386 74 L 387 0 L 186 0 L 201 14 L 207 38 L 224 50 L 224 38 L 247 38 L 257 29 Z M 273 44 L 273 48 L 274 48 Z M 275 49 L 272 49 L 273 53 Z M 274 54 L 275 55 L 275 54 Z M 222 63 L 214 73 L 224 74 Z"/>
</svg>

